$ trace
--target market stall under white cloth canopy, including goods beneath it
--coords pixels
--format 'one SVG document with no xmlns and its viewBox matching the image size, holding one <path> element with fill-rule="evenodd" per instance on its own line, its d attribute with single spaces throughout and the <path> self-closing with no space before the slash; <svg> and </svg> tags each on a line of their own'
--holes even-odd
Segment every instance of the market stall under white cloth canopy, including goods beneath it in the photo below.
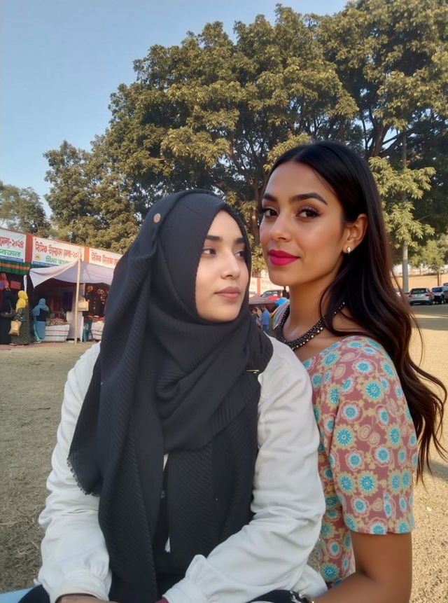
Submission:
<svg viewBox="0 0 448 603">
<path fill-rule="evenodd" d="M 51 314 L 45 326 L 45 341 L 59 337 L 56 340 L 73 338 L 76 342 L 85 335 L 85 324 L 90 326 L 87 332 L 92 333 L 93 324 L 104 317 L 113 268 L 78 260 L 31 268 L 29 277 L 37 290 L 35 297 L 48 297 Z"/>
</svg>

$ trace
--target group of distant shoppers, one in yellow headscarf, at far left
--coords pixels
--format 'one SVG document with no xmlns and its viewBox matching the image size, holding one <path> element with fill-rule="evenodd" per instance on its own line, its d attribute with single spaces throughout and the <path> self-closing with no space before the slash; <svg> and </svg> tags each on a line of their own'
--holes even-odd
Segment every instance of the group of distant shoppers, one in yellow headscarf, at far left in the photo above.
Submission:
<svg viewBox="0 0 448 603">
<path fill-rule="evenodd" d="M 31 307 L 26 291 L 18 291 L 16 297 L 7 284 L 0 305 L 0 345 L 41 343 L 49 312 L 45 299 Z"/>
</svg>

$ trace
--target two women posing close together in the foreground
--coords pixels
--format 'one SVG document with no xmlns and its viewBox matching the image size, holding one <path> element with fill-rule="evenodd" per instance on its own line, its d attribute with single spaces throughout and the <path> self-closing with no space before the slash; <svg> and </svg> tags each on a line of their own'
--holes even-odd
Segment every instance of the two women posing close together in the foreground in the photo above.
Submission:
<svg viewBox="0 0 448 603">
<path fill-rule="evenodd" d="M 447 391 L 409 356 L 367 162 L 287 151 L 260 216 L 289 292 L 273 324 L 249 312 L 230 206 L 151 207 L 68 376 L 24 603 L 409 601 L 414 477 L 446 452 Z"/>
</svg>

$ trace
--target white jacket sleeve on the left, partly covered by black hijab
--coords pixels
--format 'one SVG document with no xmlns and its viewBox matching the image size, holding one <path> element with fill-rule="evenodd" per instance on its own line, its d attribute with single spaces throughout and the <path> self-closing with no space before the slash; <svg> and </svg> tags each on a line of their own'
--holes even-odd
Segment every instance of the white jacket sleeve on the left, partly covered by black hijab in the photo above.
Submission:
<svg viewBox="0 0 448 603">
<path fill-rule="evenodd" d="M 80 490 L 67 464 L 73 431 L 98 353 L 99 345 L 92 346 L 67 377 L 52 471 L 47 480 L 50 495 L 39 517 L 45 536 L 37 583 L 48 592 L 50 603 L 69 592 L 109 599 L 111 573 L 98 523 L 99 499 Z"/>
</svg>

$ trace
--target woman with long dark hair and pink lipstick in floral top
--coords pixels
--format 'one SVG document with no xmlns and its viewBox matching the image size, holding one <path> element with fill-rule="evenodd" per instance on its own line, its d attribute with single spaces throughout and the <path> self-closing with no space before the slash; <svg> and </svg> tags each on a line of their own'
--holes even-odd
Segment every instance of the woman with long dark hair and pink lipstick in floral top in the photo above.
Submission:
<svg viewBox="0 0 448 603">
<path fill-rule="evenodd" d="M 308 370 L 321 433 L 330 590 L 316 600 L 407 602 L 412 476 L 423 477 L 431 444 L 443 453 L 446 389 L 409 356 L 416 325 L 391 282 L 377 186 L 356 153 L 316 142 L 276 161 L 261 211 L 269 277 L 290 292 L 276 337 Z"/>
</svg>

